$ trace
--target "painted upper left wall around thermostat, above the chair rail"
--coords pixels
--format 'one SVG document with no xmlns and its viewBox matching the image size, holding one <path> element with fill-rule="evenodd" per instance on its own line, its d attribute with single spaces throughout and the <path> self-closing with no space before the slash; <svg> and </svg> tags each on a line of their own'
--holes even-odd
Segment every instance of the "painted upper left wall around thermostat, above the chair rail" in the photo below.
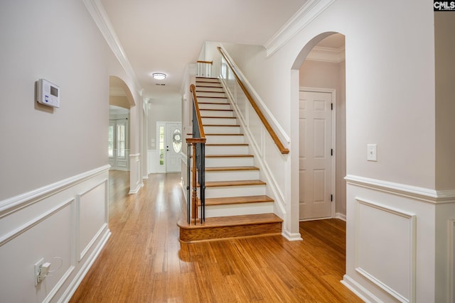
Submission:
<svg viewBox="0 0 455 303">
<path fill-rule="evenodd" d="M 6 199 L 107 163 L 109 79 L 107 46 L 80 1 L 4 1 L 0 18 Z M 60 86 L 60 109 L 34 101 L 40 78 Z"/>
</svg>

